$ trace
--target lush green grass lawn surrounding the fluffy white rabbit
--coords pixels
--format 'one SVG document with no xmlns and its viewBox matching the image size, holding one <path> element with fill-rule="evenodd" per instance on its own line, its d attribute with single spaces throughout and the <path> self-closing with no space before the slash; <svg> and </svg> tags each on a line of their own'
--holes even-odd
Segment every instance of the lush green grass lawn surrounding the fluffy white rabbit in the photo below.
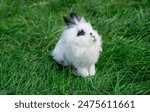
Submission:
<svg viewBox="0 0 150 112">
<path fill-rule="evenodd" d="M 71 11 L 103 36 L 94 77 L 48 56 Z M 150 94 L 149 0 L 0 0 L 0 94 Z"/>
</svg>

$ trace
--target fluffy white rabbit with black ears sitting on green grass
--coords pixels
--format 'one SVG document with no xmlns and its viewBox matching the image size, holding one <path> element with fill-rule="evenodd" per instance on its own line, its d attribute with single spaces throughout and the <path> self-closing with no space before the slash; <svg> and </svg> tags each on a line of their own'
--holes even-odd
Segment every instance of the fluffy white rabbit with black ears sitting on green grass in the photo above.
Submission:
<svg viewBox="0 0 150 112">
<path fill-rule="evenodd" d="M 63 65 L 72 65 L 74 74 L 82 77 L 95 75 L 95 64 L 102 52 L 102 37 L 84 17 L 70 13 L 63 17 L 67 27 L 62 32 L 51 55 Z"/>
</svg>

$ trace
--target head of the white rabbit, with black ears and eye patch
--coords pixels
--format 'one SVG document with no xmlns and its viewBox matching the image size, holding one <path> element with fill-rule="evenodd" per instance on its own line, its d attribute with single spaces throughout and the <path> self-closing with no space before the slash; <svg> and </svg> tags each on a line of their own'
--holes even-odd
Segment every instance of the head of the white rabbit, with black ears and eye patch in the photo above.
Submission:
<svg viewBox="0 0 150 112">
<path fill-rule="evenodd" d="M 74 12 L 70 13 L 70 18 L 64 16 L 67 28 L 64 35 L 67 40 L 79 46 L 89 46 L 100 42 L 100 36 L 93 29 L 91 24 L 84 17 L 77 16 Z"/>
</svg>

